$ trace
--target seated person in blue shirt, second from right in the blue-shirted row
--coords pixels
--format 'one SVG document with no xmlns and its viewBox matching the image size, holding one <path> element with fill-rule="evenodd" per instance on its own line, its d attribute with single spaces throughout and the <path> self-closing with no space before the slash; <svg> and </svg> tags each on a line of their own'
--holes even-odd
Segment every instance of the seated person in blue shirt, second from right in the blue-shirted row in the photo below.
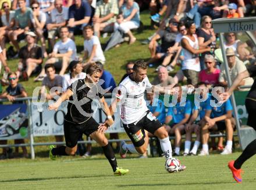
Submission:
<svg viewBox="0 0 256 190">
<path fill-rule="evenodd" d="M 205 91 L 206 87 L 207 87 L 207 85 L 203 82 L 197 84 L 197 88 L 201 89 L 200 96 L 199 96 L 201 101 L 197 101 L 197 98 L 195 98 L 195 101 L 194 101 L 195 105 L 193 107 L 193 113 L 190 117 L 189 122 L 186 124 L 186 128 L 185 128 L 186 141 L 185 141 L 185 147 L 184 147 L 185 149 L 184 149 L 183 156 L 187 156 L 189 154 L 196 155 L 197 149 L 200 146 L 200 141 L 201 141 L 200 126 L 204 121 L 205 111 L 208 109 L 211 109 L 211 105 L 210 105 L 211 95 L 209 95 L 208 92 Z M 195 96 L 197 96 L 197 95 L 195 94 Z M 199 122 L 197 122 L 197 121 L 199 121 Z M 190 151 L 191 138 L 192 138 L 193 132 L 197 135 L 197 137 L 195 139 L 194 146 Z"/>
</svg>

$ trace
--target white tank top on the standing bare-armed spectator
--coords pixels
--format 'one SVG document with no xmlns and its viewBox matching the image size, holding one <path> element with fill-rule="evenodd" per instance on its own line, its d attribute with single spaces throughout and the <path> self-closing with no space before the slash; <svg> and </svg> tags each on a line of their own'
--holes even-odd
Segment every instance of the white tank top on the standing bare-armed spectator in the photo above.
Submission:
<svg viewBox="0 0 256 190">
<path fill-rule="evenodd" d="M 186 37 L 185 35 L 183 35 L 182 39 L 184 38 L 187 41 L 189 41 L 189 44 L 192 48 L 199 49 L 197 35 L 195 34 L 193 35 L 195 38 L 194 42 L 189 37 Z M 183 48 L 183 52 L 184 52 L 184 60 L 182 63 L 182 70 L 189 69 L 189 70 L 200 71 L 201 68 L 200 68 L 200 61 L 199 61 L 198 55 L 195 55 L 184 48 Z"/>
</svg>

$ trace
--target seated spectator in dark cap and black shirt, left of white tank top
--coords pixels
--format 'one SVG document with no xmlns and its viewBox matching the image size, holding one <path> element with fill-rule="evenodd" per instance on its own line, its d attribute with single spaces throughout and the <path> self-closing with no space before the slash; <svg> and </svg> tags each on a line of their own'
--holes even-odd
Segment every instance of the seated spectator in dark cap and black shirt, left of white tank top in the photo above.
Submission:
<svg viewBox="0 0 256 190">
<path fill-rule="evenodd" d="M 159 30 L 151 39 L 148 48 L 150 49 L 151 59 L 148 63 L 164 59 L 168 55 L 168 48 L 175 45 L 176 36 L 178 34 L 178 23 L 175 19 L 169 20 L 169 26 L 164 30 Z M 161 45 L 157 41 L 161 39 Z"/>
</svg>

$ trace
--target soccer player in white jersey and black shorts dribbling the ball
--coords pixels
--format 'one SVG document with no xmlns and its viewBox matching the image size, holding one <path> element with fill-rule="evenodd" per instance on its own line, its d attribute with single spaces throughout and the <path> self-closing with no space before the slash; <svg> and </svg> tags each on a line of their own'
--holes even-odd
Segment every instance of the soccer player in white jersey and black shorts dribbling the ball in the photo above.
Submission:
<svg viewBox="0 0 256 190">
<path fill-rule="evenodd" d="M 172 157 L 172 145 L 170 144 L 169 135 L 157 117 L 153 116 L 148 110 L 144 99 L 146 89 L 167 94 L 174 94 L 176 92 L 176 89 L 151 85 L 147 77 L 147 64 L 141 60 L 134 64 L 133 73 L 119 84 L 116 98 L 109 108 L 111 114 L 113 114 L 117 103 L 120 103 L 120 117 L 123 127 L 131 142 L 133 142 L 133 144 L 126 144 L 122 141 L 120 156 L 125 158 L 128 150 L 131 153 L 137 154 L 143 154 L 147 151 L 148 144 L 145 143 L 145 138 L 148 137 L 144 131 L 147 130 L 159 138 L 165 158 L 169 159 Z M 186 166 L 180 167 L 180 171 L 184 169 L 186 169 Z"/>
</svg>

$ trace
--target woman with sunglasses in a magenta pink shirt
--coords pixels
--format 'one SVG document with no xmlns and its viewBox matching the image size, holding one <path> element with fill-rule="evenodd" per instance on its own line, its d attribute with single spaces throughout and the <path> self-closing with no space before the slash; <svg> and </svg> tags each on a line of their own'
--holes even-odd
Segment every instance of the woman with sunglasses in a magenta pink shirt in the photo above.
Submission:
<svg viewBox="0 0 256 190">
<path fill-rule="evenodd" d="M 207 87 L 211 87 L 219 83 L 219 73 L 221 70 L 215 68 L 214 56 L 206 54 L 204 56 L 204 70 L 199 73 L 199 82 L 207 84 Z"/>
</svg>

